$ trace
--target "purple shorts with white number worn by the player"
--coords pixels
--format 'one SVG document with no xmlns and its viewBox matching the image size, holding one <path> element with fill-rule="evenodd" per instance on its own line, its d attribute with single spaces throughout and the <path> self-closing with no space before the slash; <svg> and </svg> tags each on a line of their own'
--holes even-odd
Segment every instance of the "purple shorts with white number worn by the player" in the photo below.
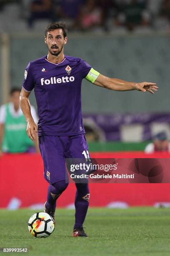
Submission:
<svg viewBox="0 0 170 256">
<path fill-rule="evenodd" d="M 39 136 L 39 147 L 44 161 L 44 177 L 54 184 L 66 177 L 66 158 L 85 159 L 88 146 L 84 134 L 74 136 Z"/>
</svg>

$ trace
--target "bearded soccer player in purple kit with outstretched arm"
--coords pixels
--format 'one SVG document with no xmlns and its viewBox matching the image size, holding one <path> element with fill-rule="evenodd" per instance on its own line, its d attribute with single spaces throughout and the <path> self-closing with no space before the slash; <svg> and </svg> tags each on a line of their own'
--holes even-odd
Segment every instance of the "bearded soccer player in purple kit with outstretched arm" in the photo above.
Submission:
<svg viewBox="0 0 170 256">
<path fill-rule="evenodd" d="M 44 161 L 44 177 L 49 182 L 45 212 L 55 217 L 56 200 L 67 188 L 65 182 L 66 158 L 89 158 L 81 112 L 81 83 L 85 78 L 91 83 L 116 91 L 138 90 L 154 93 L 158 90 L 152 82 L 126 82 L 105 77 L 80 58 L 66 56 L 67 28 L 63 23 L 51 23 L 45 29 L 48 54 L 31 61 L 25 70 L 20 105 L 27 120 L 28 136 L 35 140 L 38 132 L 39 146 Z M 29 95 L 34 88 L 38 108 L 38 129 L 29 105 Z M 83 222 L 89 205 L 88 184 L 75 184 L 75 225 L 72 236 L 87 236 Z"/>
</svg>

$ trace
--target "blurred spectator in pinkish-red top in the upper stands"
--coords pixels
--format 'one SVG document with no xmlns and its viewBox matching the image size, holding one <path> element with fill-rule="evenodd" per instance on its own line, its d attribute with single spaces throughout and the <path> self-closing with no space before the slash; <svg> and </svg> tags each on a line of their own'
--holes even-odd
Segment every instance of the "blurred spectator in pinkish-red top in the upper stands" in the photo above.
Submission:
<svg viewBox="0 0 170 256">
<path fill-rule="evenodd" d="M 87 0 L 87 4 L 82 8 L 80 16 L 80 26 L 83 30 L 89 30 L 102 25 L 102 9 L 97 5 L 96 0 Z"/>
</svg>

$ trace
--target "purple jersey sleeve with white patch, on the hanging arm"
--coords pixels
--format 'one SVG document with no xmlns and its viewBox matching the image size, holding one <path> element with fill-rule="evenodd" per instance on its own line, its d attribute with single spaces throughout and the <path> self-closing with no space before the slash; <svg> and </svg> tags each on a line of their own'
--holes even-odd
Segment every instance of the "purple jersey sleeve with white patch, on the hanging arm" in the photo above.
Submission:
<svg viewBox="0 0 170 256">
<path fill-rule="evenodd" d="M 34 79 L 33 79 L 33 74 L 32 74 L 30 63 L 28 64 L 27 68 L 25 69 L 23 89 L 26 92 L 31 92 L 32 89 L 34 89 Z"/>
</svg>

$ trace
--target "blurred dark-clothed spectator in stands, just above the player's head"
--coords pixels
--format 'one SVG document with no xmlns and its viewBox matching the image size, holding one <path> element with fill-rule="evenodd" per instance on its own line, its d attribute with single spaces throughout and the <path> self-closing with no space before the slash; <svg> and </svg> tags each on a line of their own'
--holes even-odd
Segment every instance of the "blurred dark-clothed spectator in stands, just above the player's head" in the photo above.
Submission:
<svg viewBox="0 0 170 256">
<path fill-rule="evenodd" d="M 53 21 L 53 2 L 52 0 L 31 0 L 30 15 L 28 18 L 28 25 L 33 26 L 37 19 L 49 19 Z"/>
</svg>

